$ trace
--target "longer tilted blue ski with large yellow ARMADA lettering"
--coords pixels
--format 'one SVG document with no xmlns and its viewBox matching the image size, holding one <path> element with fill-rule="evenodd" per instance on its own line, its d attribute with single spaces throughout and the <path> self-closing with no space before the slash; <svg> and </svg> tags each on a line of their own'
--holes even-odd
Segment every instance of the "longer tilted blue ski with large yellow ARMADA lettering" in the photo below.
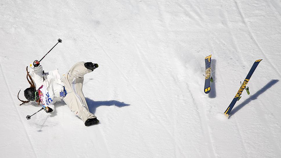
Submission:
<svg viewBox="0 0 281 158">
<path fill-rule="evenodd" d="M 242 94 L 243 90 L 245 89 L 247 83 L 249 82 L 251 76 L 253 75 L 255 69 L 257 68 L 257 65 L 260 63 L 260 61 L 262 61 L 262 59 L 256 60 L 253 64 L 253 66 L 251 67 L 248 75 L 246 76 L 244 82 L 242 83 L 241 87 L 239 88 L 238 92 L 235 94 L 232 102 L 230 103 L 230 105 L 227 107 L 226 111 L 224 112 L 224 114 L 228 117 L 229 113 L 231 112 L 232 108 L 234 107 L 235 103 L 237 102 L 239 96 Z"/>
</svg>

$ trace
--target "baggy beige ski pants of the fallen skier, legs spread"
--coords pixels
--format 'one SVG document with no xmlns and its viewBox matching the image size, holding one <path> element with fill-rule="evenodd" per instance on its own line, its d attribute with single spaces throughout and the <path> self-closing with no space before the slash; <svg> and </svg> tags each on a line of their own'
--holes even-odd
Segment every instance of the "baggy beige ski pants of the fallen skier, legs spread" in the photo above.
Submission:
<svg viewBox="0 0 281 158">
<path fill-rule="evenodd" d="M 92 72 L 84 67 L 85 62 L 78 62 L 71 69 L 63 75 L 62 82 L 67 91 L 64 97 L 64 102 L 69 106 L 78 117 L 84 122 L 89 118 L 96 117 L 89 112 L 87 102 L 85 100 L 82 87 L 84 82 L 84 75 Z"/>
</svg>

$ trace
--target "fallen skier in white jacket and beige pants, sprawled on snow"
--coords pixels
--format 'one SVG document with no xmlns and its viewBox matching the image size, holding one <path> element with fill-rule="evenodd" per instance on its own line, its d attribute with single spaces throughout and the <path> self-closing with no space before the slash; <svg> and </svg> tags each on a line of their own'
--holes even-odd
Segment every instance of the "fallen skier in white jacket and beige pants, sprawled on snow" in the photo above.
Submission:
<svg viewBox="0 0 281 158">
<path fill-rule="evenodd" d="M 98 64 L 78 62 L 62 78 L 58 69 L 43 73 L 43 67 L 38 60 L 35 60 L 33 65 L 34 68 L 29 67 L 30 72 L 26 67 L 26 78 L 27 80 L 30 78 L 30 81 L 28 80 L 30 88 L 24 90 L 24 96 L 28 101 L 20 100 L 18 93 L 18 99 L 23 102 L 22 104 L 36 101 L 38 105 L 44 107 L 46 113 L 51 113 L 55 110 L 54 103 L 64 100 L 70 110 L 84 121 L 85 126 L 99 122 L 97 117 L 89 112 L 82 92 L 84 75 L 96 69 Z"/>
</svg>

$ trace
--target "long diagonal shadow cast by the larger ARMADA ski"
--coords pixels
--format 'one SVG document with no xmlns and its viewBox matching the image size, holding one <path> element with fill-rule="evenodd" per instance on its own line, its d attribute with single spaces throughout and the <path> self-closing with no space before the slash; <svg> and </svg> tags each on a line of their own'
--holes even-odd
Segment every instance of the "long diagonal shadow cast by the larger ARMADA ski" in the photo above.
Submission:
<svg viewBox="0 0 281 158">
<path fill-rule="evenodd" d="M 231 115 L 234 115 L 237 111 L 239 111 L 240 109 L 242 109 L 242 107 L 244 107 L 245 105 L 247 105 L 248 103 L 250 103 L 252 100 L 257 99 L 257 97 L 259 95 L 261 95 L 263 92 L 265 92 L 267 89 L 269 89 L 270 87 L 272 87 L 273 85 L 275 85 L 279 80 L 271 80 L 270 82 L 268 82 L 264 87 L 262 87 L 262 89 L 260 89 L 259 91 L 257 91 L 255 94 L 253 94 L 252 96 L 250 96 L 248 99 L 244 100 L 241 104 L 239 104 L 237 107 L 235 107 L 232 111 L 231 111 Z M 231 117 L 231 115 L 229 116 L 229 118 Z"/>
</svg>

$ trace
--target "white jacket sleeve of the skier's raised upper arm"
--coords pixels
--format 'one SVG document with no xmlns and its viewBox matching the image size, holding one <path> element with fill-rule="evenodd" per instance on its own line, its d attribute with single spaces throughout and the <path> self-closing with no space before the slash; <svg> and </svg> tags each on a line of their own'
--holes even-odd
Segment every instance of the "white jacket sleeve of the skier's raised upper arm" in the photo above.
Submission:
<svg viewBox="0 0 281 158">
<path fill-rule="evenodd" d="M 36 89 L 43 85 L 43 67 L 39 65 L 38 67 L 29 67 L 29 75 L 35 83 Z"/>
</svg>

